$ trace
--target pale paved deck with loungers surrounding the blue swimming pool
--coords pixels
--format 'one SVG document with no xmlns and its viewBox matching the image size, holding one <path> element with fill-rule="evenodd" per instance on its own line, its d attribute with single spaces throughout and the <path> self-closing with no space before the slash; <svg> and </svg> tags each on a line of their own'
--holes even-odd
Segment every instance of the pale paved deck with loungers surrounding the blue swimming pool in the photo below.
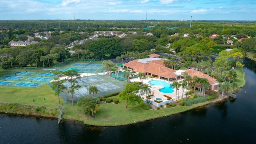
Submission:
<svg viewBox="0 0 256 144">
<path fill-rule="evenodd" d="M 166 95 L 166 96 L 172 97 L 172 99 L 173 99 L 174 101 L 176 101 L 176 96 L 175 96 L 175 94 L 176 94 L 176 89 L 175 89 L 175 88 L 173 89 L 174 92 L 172 92 L 172 93 L 163 93 L 163 92 L 159 92 L 158 89 L 162 88 L 162 86 L 150 85 L 150 84 L 148 83 L 150 80 L 161 80 L 161 79 L 159 79 L 159 78 L 147 78 L 147 79 L 143 79 L 143 80 L 142 80 L 142 81 L 143 81 L 143 84 L 147 84 L 148 86 L 151 86 L 151 88 L 154 89 L 154 91 L 151 92 L 151 94 L 154 94 L 153 100 L 155 100 L 156 98 L 162 98 L 163 100 L 167 100 L 167 98 L 164 97 L 164 95 Z M 132 80 L 131 80 L 131 81 L 132 81 Z M 137 78 L 136 78 L 135 81 L 138 81 Z M 163 81 L 167 82 L 166 80 L 163 80 Z M 174 80 L 169 81 L 169 82 L 172 83 L 173 81 L 174 81 Z M 178 82 L 180 82 L 180 79 L 178 79 Z M 185 93 L 186 93 L 186 90 L 184 89 L 183 98 L 186 97 L 186 96 L 185 96 Z M 178 96 L 179 94 L 180 94 L 180 96 Z M 148 95 L 148 94 L 147 94 L 147 95 Z M 146 95 L 144 94 L 144 95 L 142 95 L 142 97 L 145 99 Z M 180 90 L 177 91 L 177 100 L 179 100 L 179 99 L 181 99 L 181 98 L 182 98 L 182 88 L 180 88 Z"/>
</svg>

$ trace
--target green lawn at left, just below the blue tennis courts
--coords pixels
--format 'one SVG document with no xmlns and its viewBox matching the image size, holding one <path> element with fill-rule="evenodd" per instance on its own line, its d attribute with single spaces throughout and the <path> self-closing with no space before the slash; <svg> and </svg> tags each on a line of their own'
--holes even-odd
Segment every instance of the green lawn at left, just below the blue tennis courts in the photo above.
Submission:
<svg viewBox="0 0 256 144">
<path fill-rule="evenodd" d="M 47 84 L 37 88 L 0 86 L 0 102 L 18 102 L 22 105 L 46 106 L 48 109 L 58 107 L 58 96 L 54 95 L 54 91 Z M 60 98 L 60 102 L 62 104 L 64 100 Z"/>
</svg>

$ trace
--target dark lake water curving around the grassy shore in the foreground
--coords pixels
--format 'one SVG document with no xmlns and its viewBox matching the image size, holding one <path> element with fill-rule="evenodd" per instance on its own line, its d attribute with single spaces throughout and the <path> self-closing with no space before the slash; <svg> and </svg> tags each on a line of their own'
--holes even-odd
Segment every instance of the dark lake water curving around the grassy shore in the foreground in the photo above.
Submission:
<svg viewBox="0 0 256 144">
<path fill-rule="evenodd" d="M 0 115 L 2 144 L 253 144 L 256 135 L 256 64 L 244 62 L 246 85 L 227 99 L 181 114 L 116 127 Z"/>
</svg>

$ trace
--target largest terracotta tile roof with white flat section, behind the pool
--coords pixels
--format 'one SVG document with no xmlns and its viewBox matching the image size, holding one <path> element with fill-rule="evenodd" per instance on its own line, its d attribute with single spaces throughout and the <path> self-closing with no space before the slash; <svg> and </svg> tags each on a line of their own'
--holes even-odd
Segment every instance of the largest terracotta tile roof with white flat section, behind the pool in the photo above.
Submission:
<svg viewBox="0 0 256 144">
<path fill-rule="evenodd" d="M 162 76 L 164 78 L 174 78 L 178 76 L 174 74 L 174 72 L 176 72 L 175 70 L 172 70 L 164 66 L 163 59 L 160 59 L 160 58 L 155 58 L 156 60 L 153 60 L 153 59 L 154 58 L 133 60 L 131 62 L 123 64 L 123 66 L 132 68 L 134 69 L 134 71 L 137 71 L 137 72 L 143 72 L 143 73 L 149 72 L 151 74 Z"/>
</svg>

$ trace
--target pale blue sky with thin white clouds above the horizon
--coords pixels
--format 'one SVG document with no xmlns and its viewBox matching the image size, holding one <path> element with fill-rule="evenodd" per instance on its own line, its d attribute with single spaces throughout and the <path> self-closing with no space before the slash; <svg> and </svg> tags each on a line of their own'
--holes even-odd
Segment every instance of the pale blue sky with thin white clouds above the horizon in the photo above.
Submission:
<svg viewBox="0 0 256 144">
<path fill-rule="evenodd" d="M 1 0 L 0 20 L 256 20 L 256 0 Z"/>
</svg>

